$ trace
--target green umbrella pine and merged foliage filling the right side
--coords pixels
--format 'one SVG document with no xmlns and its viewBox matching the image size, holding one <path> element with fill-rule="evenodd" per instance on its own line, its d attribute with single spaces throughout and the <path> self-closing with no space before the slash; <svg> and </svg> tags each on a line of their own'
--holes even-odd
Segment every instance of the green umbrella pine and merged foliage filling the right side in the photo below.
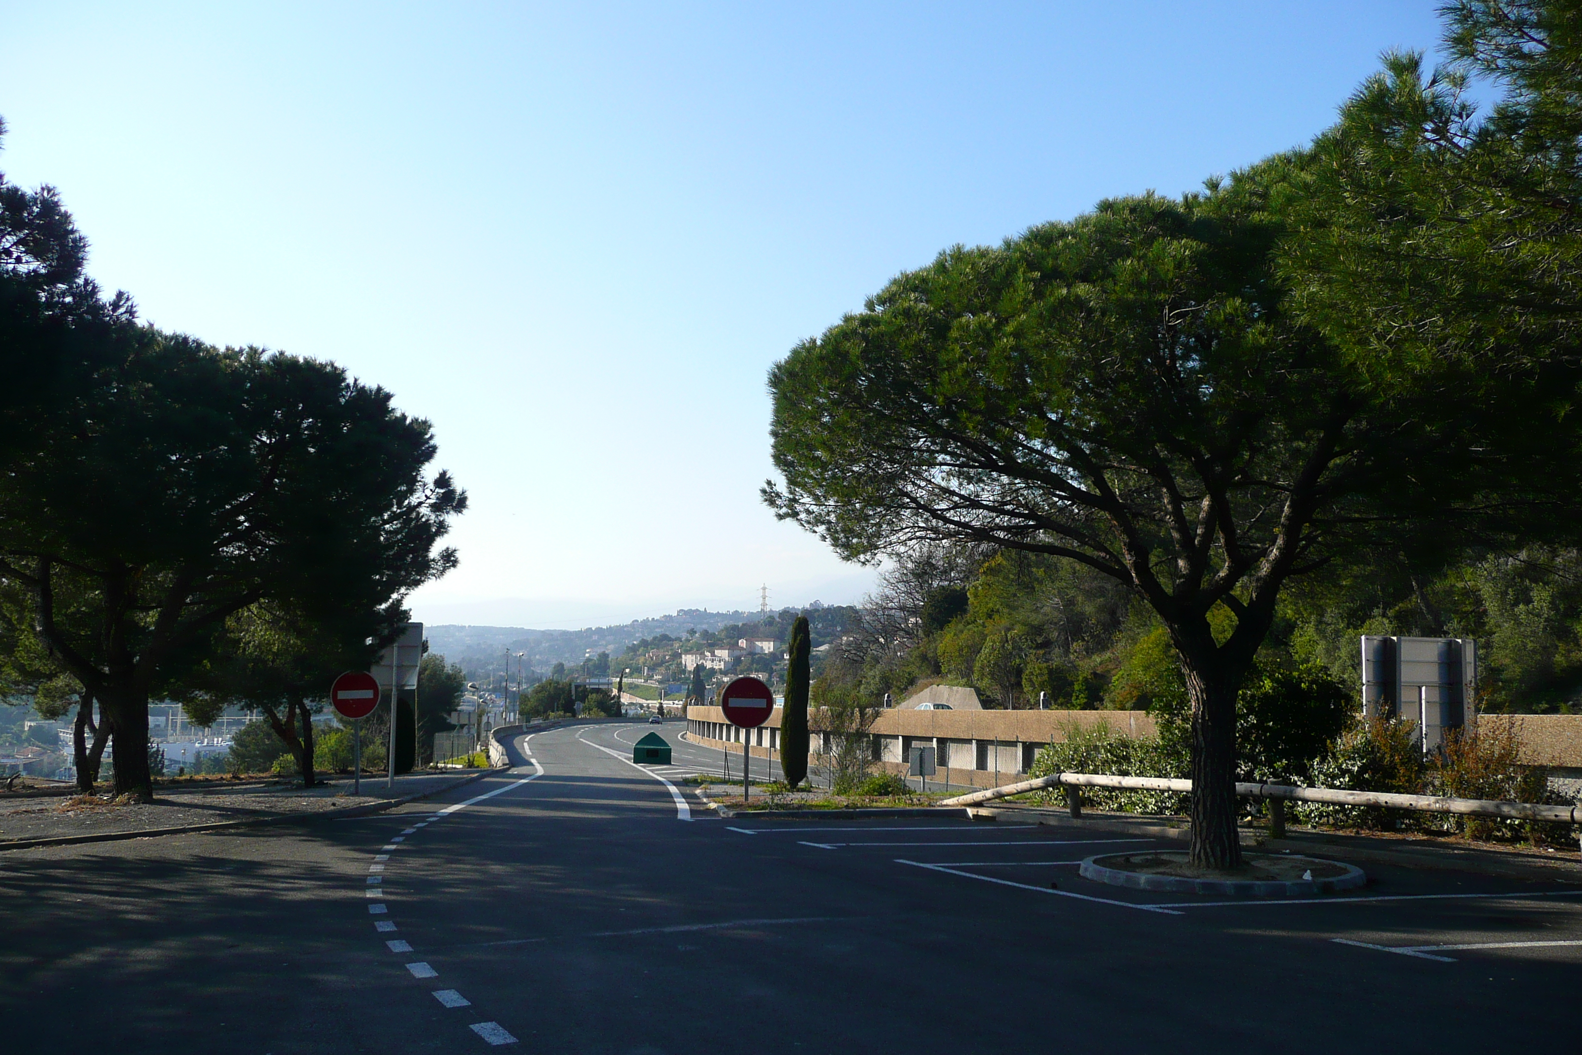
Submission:
<svg viewBox="0 0 1582 1055">
<path fill-rule="evenodd" d="M 892 565 L 826 698 L 1179 709 L 1204 868 L 1243 740 L 1310 769 L 1359 633 L 1576 707 L 1582 41 L 1569 3 L 1444 17 L 1446 66 L 1386 57 L 1311 146 L 948 248 L 774 367 L 766 503 Z M 1262 691 L 1308 720 L 1250 729 Z"/>
</svg>

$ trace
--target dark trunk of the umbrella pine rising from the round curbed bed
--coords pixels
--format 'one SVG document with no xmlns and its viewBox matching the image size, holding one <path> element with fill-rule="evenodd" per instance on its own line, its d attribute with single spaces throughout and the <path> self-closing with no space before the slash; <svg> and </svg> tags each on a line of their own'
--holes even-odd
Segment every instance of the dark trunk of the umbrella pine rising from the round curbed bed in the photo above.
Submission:
<svg viewBox="0 0 1582 1055">
<path fill-rule="evenodd" d="M 1223 656 L 1183 656 L 1191 698 L 1191 864 L 1228 872 L 1242 864 L 1236 829 L 1236 694 L 1240 674 Z"/>
</svg>

